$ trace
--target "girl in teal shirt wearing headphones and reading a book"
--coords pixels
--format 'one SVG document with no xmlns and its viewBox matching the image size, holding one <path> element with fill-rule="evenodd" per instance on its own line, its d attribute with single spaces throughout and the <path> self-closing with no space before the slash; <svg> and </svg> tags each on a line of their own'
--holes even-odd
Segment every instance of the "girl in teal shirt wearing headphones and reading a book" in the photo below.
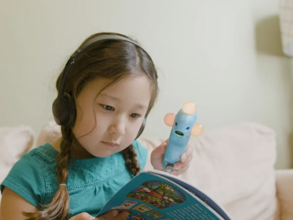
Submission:
<svg viewBox="0 0 293 220">
<path fill-rule="evenodd" d="M 13 166 L 1 184 L 1 220 L 96 216 L 146 164 L 147 150 L 136 138 L 157 97 L 157 72 L 135 41 L 117 33 L 92 35 L 71 56 L 56 87 L 53 113 L 62 138 Z M 166 143 L 151 153 L 154 169 L 162 170 Z M 186 171 L 191 150 L 173 174 Z"/>
</svg>

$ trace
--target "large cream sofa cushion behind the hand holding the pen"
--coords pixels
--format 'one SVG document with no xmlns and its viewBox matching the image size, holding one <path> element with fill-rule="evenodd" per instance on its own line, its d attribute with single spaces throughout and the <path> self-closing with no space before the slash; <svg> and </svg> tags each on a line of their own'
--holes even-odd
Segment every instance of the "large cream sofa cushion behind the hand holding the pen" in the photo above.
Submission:
<svg viewBox="0 0 293 220">
<path fill-rule="evenodd" d="M 149 157 L 151 149 L 163 141 L 140 140 L 149 149 Z M 274 219 L 276 139 L 272 129 L 241 123 L 204 132 L 189 143 L 194 147 L 193 160 L 181 178 L 219 202 L 235 220 Z M 149 159 L 147 169 L 152 169 Z"/>
</svg>

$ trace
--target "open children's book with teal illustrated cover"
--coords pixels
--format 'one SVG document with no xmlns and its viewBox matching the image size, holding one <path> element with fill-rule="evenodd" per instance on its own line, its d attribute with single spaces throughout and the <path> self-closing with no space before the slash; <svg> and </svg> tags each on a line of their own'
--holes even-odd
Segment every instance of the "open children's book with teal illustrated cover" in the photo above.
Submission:
<svg viewBox="0 0 293 220">
<path fill-rule="evenodd" d="M 128 220 L 232 220 L 224 208 L 184 180 L 158 170 L 141 172 L 100 210 L 129 212 Z"/>
</svg>

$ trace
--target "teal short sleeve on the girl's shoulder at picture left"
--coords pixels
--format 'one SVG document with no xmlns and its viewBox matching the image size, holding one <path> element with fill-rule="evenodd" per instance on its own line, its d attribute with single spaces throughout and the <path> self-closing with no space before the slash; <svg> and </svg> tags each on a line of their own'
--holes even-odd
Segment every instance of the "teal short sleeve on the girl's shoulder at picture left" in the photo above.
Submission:
<svg viewBox="0 0 293 220">
<path fill-rule="evenodd" d="M 41 165 L 29 153 L 24 154 L 11 168 L 0 185 L 1 194 L 7 187 L 29 203 L 38 207 L 45 193 L 45 180 Z"/>
</svg>

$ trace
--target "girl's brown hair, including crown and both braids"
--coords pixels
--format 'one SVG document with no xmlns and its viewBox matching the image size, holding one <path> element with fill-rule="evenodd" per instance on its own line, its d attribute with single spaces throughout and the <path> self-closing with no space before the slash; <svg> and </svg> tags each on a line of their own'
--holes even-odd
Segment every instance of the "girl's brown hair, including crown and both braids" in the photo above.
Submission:
<svg viewBox="0 0 293 220">
<path fill-rule="evenodd" d="M 98 33 L 91 35 L 83 44 L 87 40 L 103 34 L 121 35 L 117 33 Z M 122 77 L 130 74 L 145 74 L 150 82 L 152 82 L 152 98 L 147 110 L 147 114 L 149 114 L 158 94 L 157 72 L 149 55 L 137 45 L 127 41 L 102 40 L 88 47 L 76 59 L 68 73 L 64 91 L 71 95 L 72 101 L 75 103 L 76 97 L 91 80 L 97 77 L 112 79 L 111 83 L 107 85 L 108 87 L 122 79 Z M 56 82 L 57 89 L 60 76 L 61 74 Z M 59 184 L 66 184 L 67 182 L 67 165 L 71 158 L 71 149 L 76 143 L 76 138 L 71 130 L 75 123 L 75 120 L 73 121 L 73 124 L 67 127 L 61 127 L 61 152 L 57 158 L 57 177 Z M 137 175 L 140 172 L 140 167 L 133 145 L 128 146 L 122 153 L 125 155 L 127 168 L 133 175 Z M 24 212 L 23 214 L 28 217 L 28 220 L 69 219 L 69 194 L 66 186 L 59 185 L 59 189 L 52 201 L 49 204 L 41 204 L 40 206 L 40 209 L 36 212 Z"/>
</svg>

